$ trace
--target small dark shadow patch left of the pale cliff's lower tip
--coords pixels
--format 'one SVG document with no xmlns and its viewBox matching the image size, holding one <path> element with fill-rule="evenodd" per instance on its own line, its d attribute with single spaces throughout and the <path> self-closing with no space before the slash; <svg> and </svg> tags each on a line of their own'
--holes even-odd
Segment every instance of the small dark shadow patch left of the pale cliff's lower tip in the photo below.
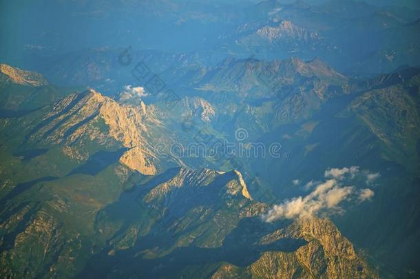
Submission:
<svg viewBox="0 0 420 279">
<path fill-rule="evenodd" d="M 128 150 L 127 147 L 120 148 L 116 151 L 99 151 L 89 157 L 87 162 L 80 167 L 76 167 L 72 170 L 67 176 L 72 176 L 74 174 L 90 174 L 91 176 L 95 176 L 103 169 L 112 165 L 123 156 L 124 152 Z"/>
</svg>

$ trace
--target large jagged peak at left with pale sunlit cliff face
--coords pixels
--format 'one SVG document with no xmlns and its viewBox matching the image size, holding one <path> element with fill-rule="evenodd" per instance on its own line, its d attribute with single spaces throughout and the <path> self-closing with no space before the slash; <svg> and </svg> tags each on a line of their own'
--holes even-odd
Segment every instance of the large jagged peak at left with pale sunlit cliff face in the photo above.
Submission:
<svg viewBox="0 0 420 279">
<path fill-rule="evenodd" d="M 147 145 L 145 105 L 120 105 L 94 90 L 71 94 L 51 107 L 28 133 L 28 140 L 75 145 L 78 152 L 125 147 L 120 163 L 142 174 L 156 174 L 156 156 Z M 92 148 L 92 143 L 98 145 Z M 66 149 L 67 150 L 67 149 Z M 67 153 L 69 150 L 67 150 Z M 74 156 L 74 152 L 69 156 Z"/>
</svg>

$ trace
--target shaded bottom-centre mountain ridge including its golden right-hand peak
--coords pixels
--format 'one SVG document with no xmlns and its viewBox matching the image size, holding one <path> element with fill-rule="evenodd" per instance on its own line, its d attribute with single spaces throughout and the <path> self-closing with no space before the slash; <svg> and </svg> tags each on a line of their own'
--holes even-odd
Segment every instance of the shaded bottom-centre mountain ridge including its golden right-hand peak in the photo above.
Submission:
<svg viewBox="0 0 420 279">
<path fill-rule="evenodd" d="M 181 168 L 132 189 L 98 214 L 109 247 L 83 276 L 375 276 L 330 221 L 264 223 L 268 205 L 244 187 L 235 172 Z"/>
</svg>

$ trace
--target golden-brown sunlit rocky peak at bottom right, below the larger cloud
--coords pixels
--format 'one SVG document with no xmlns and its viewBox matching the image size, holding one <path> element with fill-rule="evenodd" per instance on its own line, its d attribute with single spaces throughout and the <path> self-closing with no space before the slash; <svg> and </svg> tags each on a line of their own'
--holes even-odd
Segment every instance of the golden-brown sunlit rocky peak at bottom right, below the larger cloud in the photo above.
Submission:
<svg viewBox="0 0 420 279">
<path fill-rule="evenodd" d="M 212 278 L 378 278 L 327 219 L 297 220 L 262 237 L 261 243 L 286 239 L 304 239 L 306 244 L 292 252 L 266 251 L 248 267 L 222 264 Z"/>
</svg>

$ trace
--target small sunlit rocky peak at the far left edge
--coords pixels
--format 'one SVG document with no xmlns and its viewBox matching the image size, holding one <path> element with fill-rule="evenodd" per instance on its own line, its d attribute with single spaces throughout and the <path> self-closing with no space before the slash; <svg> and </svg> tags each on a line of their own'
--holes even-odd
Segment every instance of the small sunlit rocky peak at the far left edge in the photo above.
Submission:
<svg viewBox="0 0 420 279">
<path fill-rule="evenodd" d="M 39 72 L 31 72 L 0 63 L 0 74 L 8 76 L 13 83 L 26 86 L 48 85 L 47 79 Z"/>
</svg>

